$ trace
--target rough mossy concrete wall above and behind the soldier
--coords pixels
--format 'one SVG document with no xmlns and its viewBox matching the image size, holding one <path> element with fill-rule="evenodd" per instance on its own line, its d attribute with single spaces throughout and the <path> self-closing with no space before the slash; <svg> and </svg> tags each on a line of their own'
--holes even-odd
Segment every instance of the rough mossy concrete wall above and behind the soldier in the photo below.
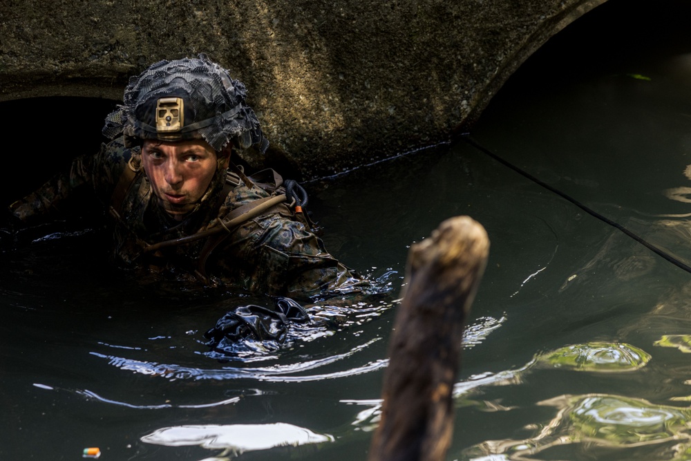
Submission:
<svg viewBox="0 0 691 461">
<path fill-rule="evenodd" d="M 120 100 L 149 64 L 207 53 L 247 85 L 269 160 L 323 176 L 448 140 L 604 1 L 2 0 L 0 100 Z"/>
</svg>

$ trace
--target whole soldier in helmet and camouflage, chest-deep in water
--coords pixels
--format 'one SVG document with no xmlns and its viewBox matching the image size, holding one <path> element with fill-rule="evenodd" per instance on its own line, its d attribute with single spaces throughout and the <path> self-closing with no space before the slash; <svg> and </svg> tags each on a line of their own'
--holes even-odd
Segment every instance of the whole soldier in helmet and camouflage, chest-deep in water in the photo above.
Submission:
<svg viewBox="0 0 691 461">
<path fill-rule="evenodd" d="M 366 289 L 314 234 L 299 185 L 273 170 L 247 176 L 232 161 L 268 147 L 246 95 L 205 55 L 151 65 L 106 117 L 111 142 L 12 203 L 12 219 L 38 223 L 95 194 L 124 267 L 288 297 Z"/>
</svg>

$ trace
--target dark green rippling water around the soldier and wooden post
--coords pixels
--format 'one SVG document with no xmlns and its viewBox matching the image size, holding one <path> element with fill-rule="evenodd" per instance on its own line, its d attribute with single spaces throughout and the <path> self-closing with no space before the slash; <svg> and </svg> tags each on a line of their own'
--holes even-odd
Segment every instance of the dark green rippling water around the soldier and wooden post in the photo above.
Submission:
<svg viewBox="0 0 691 461">
<path fill-rule="evenodd" d="M 472 137 L 691 264 L 691 54 L 679 48 L 563 78 L 536 64 Z M 486 227 L 449 460 L 691 458 L 691 274 L 464 141 L 309 189 L 330 251 L 373 277 L 395 271 L 391 298 L 410 243 L 457 214 Z M 97 238 L 0 256 L 1 459 L 73 460 L 87 446 L 103 460 L 229 446 L 244 460 L 365 458 L 390 299 L 332 334 L 218 361 L 202 333 L 272 300 L 133 285 L 104 267 Z M 301 445 L 262 446 L 285 442 Z"/>
</svg>

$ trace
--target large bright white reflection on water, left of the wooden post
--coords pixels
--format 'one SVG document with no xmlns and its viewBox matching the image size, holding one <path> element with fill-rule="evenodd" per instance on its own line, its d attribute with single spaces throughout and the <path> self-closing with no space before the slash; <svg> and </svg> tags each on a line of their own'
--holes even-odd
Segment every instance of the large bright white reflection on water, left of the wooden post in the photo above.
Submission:
<svg viewBox="0 0 691 461">
<path fill-rule="evenodd" d="M 245 451 L 266 450 L 274 446 L 334 442 L 335 439 L 333 435 L 318 434 L 303 427 L 277 422 L 170 426 L 144 435 L 140 440 L 164 446 L 196 445 L 205 449 L 223 449 L 224 452 L 220 456 L 228 456 L 239 455 Z"/>
</svg>

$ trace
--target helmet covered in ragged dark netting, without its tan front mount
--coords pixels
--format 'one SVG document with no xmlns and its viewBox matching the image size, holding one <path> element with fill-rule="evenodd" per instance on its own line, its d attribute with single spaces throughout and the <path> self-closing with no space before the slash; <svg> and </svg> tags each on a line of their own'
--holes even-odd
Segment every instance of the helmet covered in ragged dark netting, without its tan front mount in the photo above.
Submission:
<svg viewBox="0 0 691 461">
<path fill-rule="evenodd" d="M 205 140 L 216 151 L 229 142 L 246 149 L 259 143 L 269 146 L 259 120 L 245 102 L 245 85 L 206 55 L 152 64 L 138 77 L 131 77 L 122 106 L 106 117 L 103 134 L 114 139 L 124 135 L 128 146 L 142 140 Z M 183 102 L 179 130 L 162 133 L 156 127 L 161 98 L 179 97 Z"/>
</svg>

